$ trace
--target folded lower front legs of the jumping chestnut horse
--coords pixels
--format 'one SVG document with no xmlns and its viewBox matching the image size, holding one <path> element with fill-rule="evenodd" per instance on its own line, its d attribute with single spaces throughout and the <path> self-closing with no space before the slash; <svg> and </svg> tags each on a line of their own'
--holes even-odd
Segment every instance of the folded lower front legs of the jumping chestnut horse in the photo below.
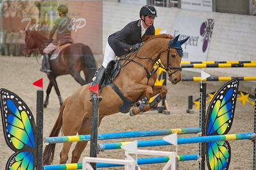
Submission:
<svg viewBox="0 0 256 170">
<path fill-rule="evenodd" d="M 155 95 L 159 94 L 151 103 L 145 103 L 144 100 L 148 100 L 148 98 L 143 98 L 141 105 L 139 107 L 133 107 L 130 110 L 130 116 L 135 116 L 139 114 L 140 112 L 146 112 L 149 111 L 151 108 L 157 107 L 158 103 L 164 98 L 164 96 L 167 93 L 167 88 L 166 86 L 153 86 L 153 93 L 149 97 L 154 97 Z"/>
</svg>

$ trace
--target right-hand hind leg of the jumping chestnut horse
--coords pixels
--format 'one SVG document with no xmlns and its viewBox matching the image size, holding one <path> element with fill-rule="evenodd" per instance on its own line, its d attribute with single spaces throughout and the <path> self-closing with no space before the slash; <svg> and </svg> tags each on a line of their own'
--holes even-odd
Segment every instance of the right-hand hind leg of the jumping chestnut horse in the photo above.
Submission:
<svg viewBox="0 0 256 170">
<path fill-rule="evenodd" d="M 103 117 L 99 117 L 99 125 L 101 123 L 102 118 Z M 89 118 L 87 120 L 83 121 L 83 125 L 81 126 L 81 129 L 78 132 L 78 134 L 79 135 L 90 134 L 90 119 Z M 87 145 L 87 143 L 88 143 L 88 141 L 76 143 L 76 147 L 74 148 L 73 153 L 72 153 L 71 163 L 77 163 L 78 162 L 78 160 L 81 157 L 81 153 L 85 149 L 85 146 Z"/>
</svg>

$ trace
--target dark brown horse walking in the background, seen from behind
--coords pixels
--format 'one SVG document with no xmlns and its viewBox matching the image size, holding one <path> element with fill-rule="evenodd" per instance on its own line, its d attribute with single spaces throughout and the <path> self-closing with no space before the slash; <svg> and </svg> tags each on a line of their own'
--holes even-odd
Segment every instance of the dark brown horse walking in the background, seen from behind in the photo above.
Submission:
<svg viewBox="0 0 256 170">
<path fill-rule="evenodd" d="M 43 54 L 43 50 L 51 42 L 40 31 L 26 31 L 25 42 L 26 49 L 29 52 L 29 56 L 33 49 L 38 49 L 40 54 Z M 83 45 L 82 43 L 73 43 L 68 47 L 65 47 L 59 54 L 58 58 L 50 60 L 51 73 L 47 75 L 49 78 L 49 84 L 46 90 L 46 100 L 44 101 L 44 107 L 49 103 L 49 94 L 51 88 L 54 86 L 60 105 L 63 100 L 58 89 L 56 77 L 59 75 L 70 74 L 74 79 L 81 84 L 81 86 L 92 82 L 92 77 L 96 72 L 97 65 L 90 50 L 90 47 Z M 80 72 L 83 71 L 85 80 L 81 77 Z"/>
</svg>

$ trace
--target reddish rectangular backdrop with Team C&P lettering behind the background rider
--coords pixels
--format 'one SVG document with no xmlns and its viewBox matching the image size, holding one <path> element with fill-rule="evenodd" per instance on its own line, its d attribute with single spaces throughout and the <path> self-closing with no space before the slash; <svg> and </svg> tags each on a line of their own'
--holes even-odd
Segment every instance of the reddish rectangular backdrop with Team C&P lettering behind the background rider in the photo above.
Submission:
<svg viewBox="0 0 256 170">
<path fill-rule="evenodd" d="M 67 7 L 67 17 L 71 20 L 63 19 L 58 23 L 53 39 L 56 39 L 57 33 L 69 29 L 74 43 L 83 43 L 90 47 L 93 54 L 102 54 L 103 2 L 56 0 L 3 1 L 3 54 L 22 55 L 24 31 L 40 31 L 47 37 L 61 16 L 58 12 L 60 5 Z"/>
</svg>

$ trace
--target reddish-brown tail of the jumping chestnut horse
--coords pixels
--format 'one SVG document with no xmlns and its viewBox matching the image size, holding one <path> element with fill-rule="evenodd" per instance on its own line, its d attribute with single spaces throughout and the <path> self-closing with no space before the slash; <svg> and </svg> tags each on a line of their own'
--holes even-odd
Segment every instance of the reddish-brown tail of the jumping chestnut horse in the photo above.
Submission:
<svg viewBox="0 0 256 170">
<path fill-rule="evenodd" d="M 58 114 L 58 118 L 55 122 L 55 125 L 53 126 L 53 129 L 51 130 L 51 134 L 49 137 L 56 137 L 60 133 L 60 128 L 62 128 L 62 115 L 63 111 L 65 109 L 65 105 L 67 104 L 69 98 L 67 98 L 64 103 L 62 104 L 62 107 L 60 107 L 60 113 Z M 44 166 L 50 165 L 51 162 L 53 162 L 53 157 L 55 155 L 55 145 L 56 143 L 51 143 L 46 145 L 46 148 L 44 149 L 43 154 L 43 164 Z"/>
</svg>

